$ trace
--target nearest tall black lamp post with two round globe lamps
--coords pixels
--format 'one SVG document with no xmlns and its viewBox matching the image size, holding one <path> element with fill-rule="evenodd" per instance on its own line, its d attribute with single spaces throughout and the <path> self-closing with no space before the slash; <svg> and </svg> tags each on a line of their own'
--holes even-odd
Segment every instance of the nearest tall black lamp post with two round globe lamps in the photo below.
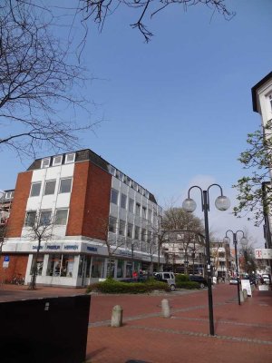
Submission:
<svg viewBox="0 0 272 363">
<path fill-rule="evenodd" d="M 210 250 L 209 250 L 209 189 L 213 186 L 218 186 L 220 189 L 220 195 L 215 201 L 215 206 L 219 211 L 227 211 L 230 206 L 230 201 L 223 195 L 222 188 L 219 184 L 211 184 L 207 191 L 203 191 L 198 185 L 194 185 L 189 188 L 188 198 L 183 201 L 182 208 L 184 211 L 192 212 L 197 208 L 197 203 L 189 198 L 189 192 L 193 188 L 199 189 L 201 193 L 201 205 L 204 212 L 204 226 L 205 226 L 205 240 L 206 240 L 206 259 L 207 259 L 207 274 L 208 274 L 208 299 L 209 299 L 209 334 L 214 335 L 214 322 L 213 322 L 213 306 L 212 306 L 212 289 L 211 289 L 211 266 L 210 266 Z"/>
</svg>

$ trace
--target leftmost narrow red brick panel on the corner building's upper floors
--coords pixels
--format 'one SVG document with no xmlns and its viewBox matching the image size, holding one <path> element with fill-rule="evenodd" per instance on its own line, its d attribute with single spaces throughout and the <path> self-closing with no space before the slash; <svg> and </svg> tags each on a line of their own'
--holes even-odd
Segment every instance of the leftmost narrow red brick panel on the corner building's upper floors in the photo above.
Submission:
<svg viewBox="0 0 272 363">
<path fill-rule="evenodd" d="M 24 226 L 26 203 L 29 197 L 33 172 L 21 172 L 18 174 L 15 186 L 15 198 L 8 219 L 5 237 L 21 237 Z"/>
</svg>

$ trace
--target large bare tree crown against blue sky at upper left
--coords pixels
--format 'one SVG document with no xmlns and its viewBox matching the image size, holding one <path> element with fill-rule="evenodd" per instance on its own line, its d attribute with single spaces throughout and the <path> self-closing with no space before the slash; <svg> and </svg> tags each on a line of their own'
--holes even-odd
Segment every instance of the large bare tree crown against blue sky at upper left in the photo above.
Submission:
<svg viewBox="0 0 272 363">
<path fill-rule="evenodd" d="M 33 157 L 43 147 L 74 149 L 77 132 L 92 128 L 74 121 L 77 111 L 89 113 L 80 92 L 86 72 L 70 64 L 69 44 L 53 34 L 50 16 L 32 0 L 1 2 L 0 151 Z"/>
</svg>

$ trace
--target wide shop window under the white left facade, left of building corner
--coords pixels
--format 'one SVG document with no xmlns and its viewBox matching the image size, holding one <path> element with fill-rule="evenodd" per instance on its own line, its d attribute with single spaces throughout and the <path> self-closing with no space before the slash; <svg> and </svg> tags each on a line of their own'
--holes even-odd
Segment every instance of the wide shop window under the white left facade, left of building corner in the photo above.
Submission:
<svg viewBox="0 0 272 363">
<path fill-rule="evenodd" d="M 50 255 L 46 276 L 73 277 L 73 255 Z"/>
</svg>

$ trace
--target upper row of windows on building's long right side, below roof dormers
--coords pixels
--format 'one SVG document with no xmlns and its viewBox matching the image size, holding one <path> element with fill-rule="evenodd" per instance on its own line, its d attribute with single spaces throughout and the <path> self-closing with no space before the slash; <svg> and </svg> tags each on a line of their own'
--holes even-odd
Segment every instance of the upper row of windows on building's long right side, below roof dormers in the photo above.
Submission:
<svg viewBox="0 0 272 363">
<path fill-rule="evenodd" d="M 127 210 L 129 209 L 129 211 L 131 211 L 131 213 L 134 213 L 136 215 L 141 216 L 141 218 L 145 218 L 145 219 L 149 219 L 151 221 L 152 219 L 152 210 L 149 208 L 147 210 L 146 207 L 141 206 L 141 204 L 139 202 L 136 202 L 132 199 L 132 198 L 127 198 L 127 196 L 123 193 L 119 193 L 119 191 L 116 191 L 116 189 L 112 188 L 112 193 L 111 193 L 111 201 L 113 204 L 119 205 L 120 203 L 120 207 Z M 157 215 L 157 212 L 154 211 L 154 215 Z"/>
</svg>

